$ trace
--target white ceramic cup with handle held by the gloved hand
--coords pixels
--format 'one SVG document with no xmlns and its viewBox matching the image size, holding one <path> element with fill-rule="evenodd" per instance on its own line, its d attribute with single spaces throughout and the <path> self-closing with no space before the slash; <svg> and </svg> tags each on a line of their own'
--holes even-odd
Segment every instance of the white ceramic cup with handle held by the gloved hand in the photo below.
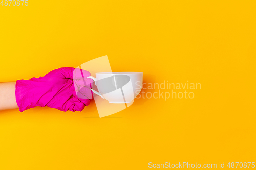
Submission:
<svg viewBox="0 0 256 170">
<path fill-rule="evenodd" d="M 109 103 L 130 103 L 140 93 L 143 72 L 99 72 L 93 79 L 99 92 L 93 93 L 106 99 Z"/>
</svg>

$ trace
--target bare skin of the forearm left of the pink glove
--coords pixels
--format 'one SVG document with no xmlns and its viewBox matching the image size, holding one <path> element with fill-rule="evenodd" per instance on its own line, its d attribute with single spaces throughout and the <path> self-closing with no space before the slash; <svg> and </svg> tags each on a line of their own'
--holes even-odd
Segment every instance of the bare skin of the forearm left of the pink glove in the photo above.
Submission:
<svg viewBox="0 0 256 170">
<path fill-rule="evenodd" d="M 0 110 L 17 109 L 15 98 L 16 82 L 0 83 Z"/>
</svg>

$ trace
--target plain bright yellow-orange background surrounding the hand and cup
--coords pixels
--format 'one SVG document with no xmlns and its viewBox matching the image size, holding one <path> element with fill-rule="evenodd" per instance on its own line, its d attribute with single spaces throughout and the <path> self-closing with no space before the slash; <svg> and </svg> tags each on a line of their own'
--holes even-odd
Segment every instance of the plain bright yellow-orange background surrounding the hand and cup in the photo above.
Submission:
<svg viewBox="0 0 256 170">
<path fill-rule="evenodd" d="M 0 82 L 108 55 L 113 71 L 201 90 L 136 99 L 105 118 L 94 102 L 75 113 L 1 111 L 0 169 L 256 162 L 255 1 L 28 2 L 0 5 Z"/>
</svg>

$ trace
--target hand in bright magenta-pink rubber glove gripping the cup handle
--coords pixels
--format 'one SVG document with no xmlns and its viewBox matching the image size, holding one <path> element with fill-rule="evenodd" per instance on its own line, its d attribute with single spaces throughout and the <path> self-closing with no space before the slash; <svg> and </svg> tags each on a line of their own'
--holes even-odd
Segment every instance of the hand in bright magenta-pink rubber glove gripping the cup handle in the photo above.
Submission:
<svg viewBox="0 0 256 170">
<path fill-rule="evenodd" d="M 81 74 L 82 72 L 82 74 Z M 90 72 L 77 68 L 59 68 L 44 77 L 16 81 L 16 102 L 19 111 L 51 107 L 61 111 L 82 111 L 90 104 L 92 79 Z"/>
</svg>

